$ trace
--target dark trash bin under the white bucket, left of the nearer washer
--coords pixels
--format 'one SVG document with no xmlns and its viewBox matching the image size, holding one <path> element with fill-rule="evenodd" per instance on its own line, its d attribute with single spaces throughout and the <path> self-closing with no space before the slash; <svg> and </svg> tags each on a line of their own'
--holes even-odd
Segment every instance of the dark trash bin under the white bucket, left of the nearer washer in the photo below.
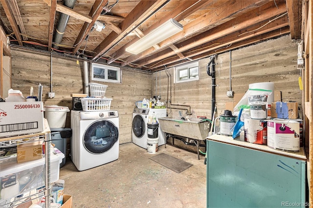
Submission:
<svg viewBox="0 0 313 208">
<path fill-rule="evenodd" d="M 50 128 L 51 131 L 51 143 L 55 145 L 57 149 L 59 149 L 65 157 L 60 164 L 60 167 L 64 166 L 67 160 L 67 138 L 72 137 L 72 129 L 71 128 Z"/>
</svg>

